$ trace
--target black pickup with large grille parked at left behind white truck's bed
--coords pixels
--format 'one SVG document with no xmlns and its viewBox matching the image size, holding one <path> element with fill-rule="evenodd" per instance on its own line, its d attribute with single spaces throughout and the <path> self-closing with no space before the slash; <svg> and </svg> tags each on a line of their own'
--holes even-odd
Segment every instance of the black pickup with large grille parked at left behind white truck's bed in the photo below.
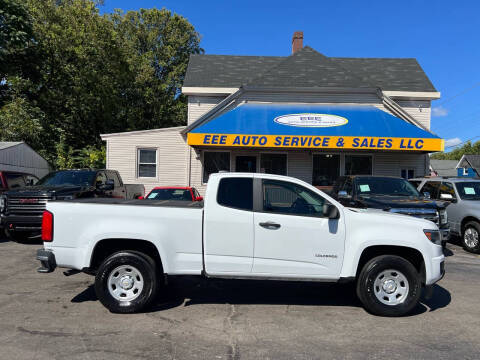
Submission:
<svg viewBox="0 0 480 360">
<path fill-rule="evenodd" d="M 40 179 L 34 186 L 6 191 L 0 200 L 0 223 L 14 240 L 39 237 L 47 201 L 110 197 L 137 199 L 143 185 L 127 185 L 114 170 L 61 170 Z"/>
</svg>

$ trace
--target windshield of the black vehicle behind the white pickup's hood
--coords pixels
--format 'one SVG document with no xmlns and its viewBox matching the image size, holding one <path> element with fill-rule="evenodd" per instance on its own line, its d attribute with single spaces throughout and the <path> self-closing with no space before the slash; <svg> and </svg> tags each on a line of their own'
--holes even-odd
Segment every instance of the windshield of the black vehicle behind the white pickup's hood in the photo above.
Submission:
<svg viewBox="0 0 480 360">
<path fill-rule="evenodd" d="M 355 179 L 355 189 L 360 196 L 420 196 L 407 180 L 397 178 L 359 177 Z"/>
</svg>

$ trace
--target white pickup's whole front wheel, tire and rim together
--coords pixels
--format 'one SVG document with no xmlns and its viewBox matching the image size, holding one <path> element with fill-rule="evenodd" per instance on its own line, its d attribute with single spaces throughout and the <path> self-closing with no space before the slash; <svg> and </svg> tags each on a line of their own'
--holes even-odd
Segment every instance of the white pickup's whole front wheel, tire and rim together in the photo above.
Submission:
<svg viewBox="0 0 480 360">
<path fill-rule="evenodd" d="M 381 316 L 402 316 L 419 302 L 420 274 L 406 259 L 382 255 L 365 264 L 357 279 L 357 295 L 365 309 Z"/>
</svg>

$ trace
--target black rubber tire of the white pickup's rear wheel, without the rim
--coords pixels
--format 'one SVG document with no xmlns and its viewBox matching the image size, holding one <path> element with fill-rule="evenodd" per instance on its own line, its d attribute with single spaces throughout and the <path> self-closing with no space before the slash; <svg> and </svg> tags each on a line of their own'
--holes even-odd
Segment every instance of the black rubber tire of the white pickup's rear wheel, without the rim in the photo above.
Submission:
<svg viewBox="0 0 480 360">
<path fill-rule="evenodd" d="M 142 289 L 132 300 L 120 300 L 111 294 L 109 278 L 119 267 L 133 267 L 142 279 Z M 128 269 L 127 269 L 128 270 Z M 135 280 L 134 280 L 135 282 Z M 95 293 L 100 302 L 113 313 L 134 313 L 146 308 L 155 299 L 158 287 L 157 266 L 148 255 L 136 251 L 120 251 L 109 256 L 95 276 Z M 135 289 L 134 289 L 135 290 Z"/>
</svg>

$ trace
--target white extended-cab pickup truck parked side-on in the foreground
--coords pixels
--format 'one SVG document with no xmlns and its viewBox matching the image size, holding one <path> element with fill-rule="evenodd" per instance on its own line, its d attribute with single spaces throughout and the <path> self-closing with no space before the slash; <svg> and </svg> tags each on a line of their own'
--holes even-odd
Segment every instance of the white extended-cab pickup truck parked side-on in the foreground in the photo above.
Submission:
<svg viewBox="0 0 480 360">
<path fill-rule="evenodd" d="M 204 203 L 117 199 L 49 202 L 39 272 L 95 274 L 112 312 L 136 312 L 167 276 L 356 281 L 371 313 L 401 316 L 444 275 L 427 220 L 351 209 L 295 178 L 210 176 Z M 162 291 L 168 288 L 162 288 Z"/>
</svg>

